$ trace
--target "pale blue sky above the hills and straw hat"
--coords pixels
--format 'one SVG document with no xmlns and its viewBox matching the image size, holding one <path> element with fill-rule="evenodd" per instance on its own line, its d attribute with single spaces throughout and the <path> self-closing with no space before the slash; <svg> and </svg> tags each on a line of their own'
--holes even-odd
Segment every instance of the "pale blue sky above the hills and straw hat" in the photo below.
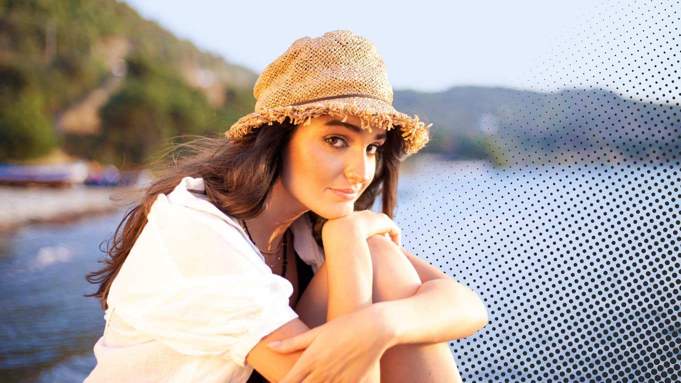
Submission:
<svg viewBox="0 0 681 383">
<path fill-rule="evenodd" d="M 669 20 L 678 21 L 671 0 L 125 3 L 200 49 L 258 74 L 298 38 L 347 29 L 377 46 L 394 89 L 417 91 L 591 86 L 654 97 L 641 91 L 645 84 L 626 84 L 621 76 L 645 74 L 640 67 L 629 72 L 627 65 L 637 55 L 645 58 L 644 43 L 650 40 L 650 49 L 655 41 L 645 27 L 665 23 L 673 31 Z"/>
</svg>

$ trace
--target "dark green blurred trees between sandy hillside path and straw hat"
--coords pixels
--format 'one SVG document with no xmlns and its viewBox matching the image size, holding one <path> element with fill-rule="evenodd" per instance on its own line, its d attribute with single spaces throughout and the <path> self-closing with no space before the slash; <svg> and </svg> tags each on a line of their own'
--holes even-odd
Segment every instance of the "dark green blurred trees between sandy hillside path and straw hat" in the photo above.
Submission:
<svg viewBox="0 0 681 383">
<path fill-rule="evenodd" d="M 221 129 L 223 123 L 214 117 L 204 96 L 185 85 L 172 68 L 141 54 L 128 63 L 125 85 L 101 108 L 103 123 L 91 157 L 118 166 L 142 164 L 162 141 Z"/>
</svg>

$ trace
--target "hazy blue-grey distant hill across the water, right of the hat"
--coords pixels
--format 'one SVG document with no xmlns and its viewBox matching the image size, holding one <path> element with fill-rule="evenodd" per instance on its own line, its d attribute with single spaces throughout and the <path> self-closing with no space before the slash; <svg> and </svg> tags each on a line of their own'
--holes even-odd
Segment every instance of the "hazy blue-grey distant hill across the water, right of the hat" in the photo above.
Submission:
<svg viewBox="0 0 681 383">
<path fill-rule="evenodd" d="M 450 158 L 487 158 L 513 165 L 560 159 L 678 158 L 681 153 L 678 103 L 646 104 L 600 89 L 396 91 L 393 104 L 433 123 L 433 138 L 424 151 Z"/>
</svg>

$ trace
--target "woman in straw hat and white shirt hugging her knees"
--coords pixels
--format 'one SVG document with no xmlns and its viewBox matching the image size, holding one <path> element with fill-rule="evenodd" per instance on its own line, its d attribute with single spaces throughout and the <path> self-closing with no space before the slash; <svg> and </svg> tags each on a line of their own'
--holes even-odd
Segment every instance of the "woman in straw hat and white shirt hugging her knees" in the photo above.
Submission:
<svg viewBox="0 0 681 383">
<path fill-rule="evenodd" d="M 375 46 L 304 37 L 254 95 L 147 187 L 89 275 L 106 327 L 86 381 L 460 380 L 446 341 L 487 313 L 400 249 L 398 166 L 428 127 L 392 108 Z"/>
</svg>

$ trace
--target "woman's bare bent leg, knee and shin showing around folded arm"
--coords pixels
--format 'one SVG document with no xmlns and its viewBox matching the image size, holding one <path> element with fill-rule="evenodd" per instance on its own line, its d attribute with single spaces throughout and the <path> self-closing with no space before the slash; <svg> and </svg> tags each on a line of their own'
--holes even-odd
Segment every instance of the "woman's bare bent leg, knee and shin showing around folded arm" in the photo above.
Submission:
<svg viewBox="0 0 681 383">
<path fill-rule="evenodd" d="M 421 281 L 411 262 L 394 243 L 373 239 L 373 301 L 413 296 Z M 461 382 L 461 376 L 447 343 L 400 344 L 381 357 L 381 382 Z"/>
</svg>

